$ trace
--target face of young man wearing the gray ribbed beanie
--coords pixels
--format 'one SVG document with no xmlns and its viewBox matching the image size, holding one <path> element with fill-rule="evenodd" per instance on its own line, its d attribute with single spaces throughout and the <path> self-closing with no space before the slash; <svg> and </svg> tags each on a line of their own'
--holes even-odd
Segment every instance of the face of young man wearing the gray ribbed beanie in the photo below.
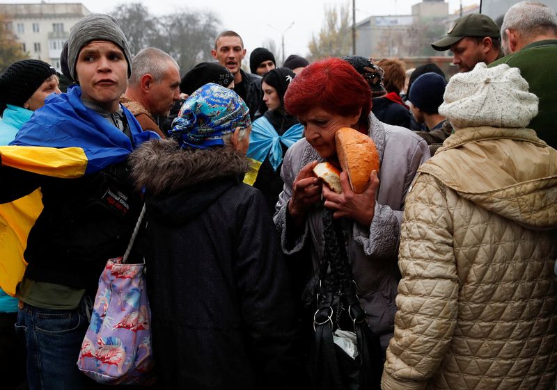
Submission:
<svg viewBox="0 0 557 390">
<path fill-rule="evenodd" d="M 81 96 L 111 113 L 127 88 L 127 61 L 120 47 L 94 40 L 79 51 L 75 65 Z"/>
</svg>

